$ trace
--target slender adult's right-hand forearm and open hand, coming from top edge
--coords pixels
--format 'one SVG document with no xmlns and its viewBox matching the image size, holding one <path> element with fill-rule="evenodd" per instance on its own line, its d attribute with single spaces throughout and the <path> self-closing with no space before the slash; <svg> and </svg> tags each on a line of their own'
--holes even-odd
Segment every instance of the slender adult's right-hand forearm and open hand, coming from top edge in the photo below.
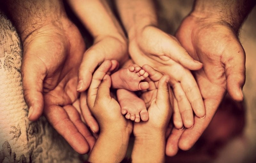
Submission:
<svg viewBox="0 0 256 163">
<path fill-rule="evenodd" d="M 174 122 L 176 128 L 193 127 L 193 111 L 204 117 L 204 102 L 191 72 L 202 64 L 194 60 L 177 39 L 157 28 L 156 11 L 150 0 L 116 0 L 121 20 L 128 33 L 129 54 L 142 66 L 149 64 L 168 74 L 175 95 L 174 114 L 182 121 Z M 184 66 L 184 67 L 183 67 Z M 177 107 L 176 107 L 177 106 Z"/>
</svg>

